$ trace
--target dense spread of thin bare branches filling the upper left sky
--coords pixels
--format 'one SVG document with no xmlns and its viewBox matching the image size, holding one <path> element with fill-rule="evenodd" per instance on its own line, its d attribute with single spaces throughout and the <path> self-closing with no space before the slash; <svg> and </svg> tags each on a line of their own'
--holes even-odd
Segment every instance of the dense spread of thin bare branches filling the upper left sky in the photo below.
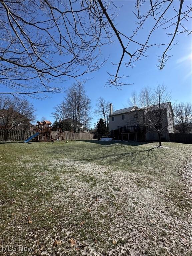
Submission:
<svg viewBox="0 0 192 256">
<path fill-rule="evenodd" d="M 95 48 L 109 40 L 102 39 L 98 18 L 92 25 L 93 8 L 85 5 L 1 1 L 0 81 L 12 94 L 58 92 L 62 86 L 53 80 L 76 79 L 102 65 Z"/>
</svg>

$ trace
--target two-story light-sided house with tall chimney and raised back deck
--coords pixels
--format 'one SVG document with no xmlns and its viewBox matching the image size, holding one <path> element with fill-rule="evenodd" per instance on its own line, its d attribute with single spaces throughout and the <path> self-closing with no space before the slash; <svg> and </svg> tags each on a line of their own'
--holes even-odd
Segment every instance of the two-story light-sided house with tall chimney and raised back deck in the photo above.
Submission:
<svg viewBox="0 0 192 256">
<path fill-rule="evenodd" d="M 113 112 L 113 106 L 110 103 L 109 114 L 109 129 L 116 139 L 122 140 L 138 140 L 143 139 L 143 134 L 146 133 L 146 140 L 158 140 L 158 134 L 152 125 L 143 124 L 143 113 L 147 113 L 150 120 L 156 114 L 157 105 L 150 106 L 147 110 L 139 109 L 137 106 L 123 108 Z M 169 133 L 174 132 L 173 109 L 171 102 L 160 104 L 160 109 L 163 109 L 163 118 L 160 123 L 162 127 L 162 140 L 169 141 Z"/>
</svg>

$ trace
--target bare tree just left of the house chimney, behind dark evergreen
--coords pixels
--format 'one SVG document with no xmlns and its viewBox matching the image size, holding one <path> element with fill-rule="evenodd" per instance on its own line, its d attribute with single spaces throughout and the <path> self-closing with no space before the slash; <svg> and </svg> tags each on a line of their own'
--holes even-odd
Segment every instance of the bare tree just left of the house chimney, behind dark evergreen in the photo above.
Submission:
<svg viewBox="0 0 192 256">
<path fill-rule="evenodd" d="M 103 118 L 105 123 L 105 129 L 108 129 L 109 126 L 109 101 L 106 101 L 104 98 L 100 97 L 97 99 L 96 109 L 94 113 L 99 117 Z"/>
</svg>

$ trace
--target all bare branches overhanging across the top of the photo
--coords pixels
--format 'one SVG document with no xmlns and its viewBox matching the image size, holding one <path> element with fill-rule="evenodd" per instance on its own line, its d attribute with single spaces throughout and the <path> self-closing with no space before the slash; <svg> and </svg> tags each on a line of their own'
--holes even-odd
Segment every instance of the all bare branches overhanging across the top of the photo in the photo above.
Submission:
<svg viewBox="0 0 192 256">
<path fill-rule="evenodd" d="M 120 68 L 133 67 L 147 56 L 150 47 L 162 47 L 160 69 L 169 59 L 178 34 L 188 35 L 191 6 L 188 1 L 136 1 L 136 26 L 126 34 L 115 25 L 115 11 L 109 1 L 12 1 L 0 2 L 0 83 L 10 88 L 1 94 L 34 95 L 58 92 L 68 78 L 97 70 L 101 46 L 114 40 L 122 54 L 107 84 L 122 85 Z M 130 10 L 134 11 L 134 10 Z M 156 42 L 156 31 L 165 36 Z M 133 32 L 132 32 L 133 31 Z M 139 33 L 142 33 L 138 39 Z M 168 34 L 168 35 L 167 35 Z M 105 61 L 104 61 L 105 62 Z"/>
</svg>

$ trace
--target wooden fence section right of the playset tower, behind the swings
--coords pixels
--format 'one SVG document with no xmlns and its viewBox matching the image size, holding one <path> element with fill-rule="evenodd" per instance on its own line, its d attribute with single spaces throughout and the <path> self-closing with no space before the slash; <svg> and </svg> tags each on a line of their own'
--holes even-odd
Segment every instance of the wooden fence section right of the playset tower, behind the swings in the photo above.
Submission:
<svg viewBox="0 0 192 256">
<path fill-rule="evenodd" d="M 55 138 L 58 132 L 52 131 L 51 133 L 52 133 L 52 137 Z M 58 134 L 58 137 L 61 136 L 61 133 L 64 135 L 65 140 L 92 140 L 94 137 L 93 133 L 76 133 L 76 132 L 60 132 Z"/>
</svg>

